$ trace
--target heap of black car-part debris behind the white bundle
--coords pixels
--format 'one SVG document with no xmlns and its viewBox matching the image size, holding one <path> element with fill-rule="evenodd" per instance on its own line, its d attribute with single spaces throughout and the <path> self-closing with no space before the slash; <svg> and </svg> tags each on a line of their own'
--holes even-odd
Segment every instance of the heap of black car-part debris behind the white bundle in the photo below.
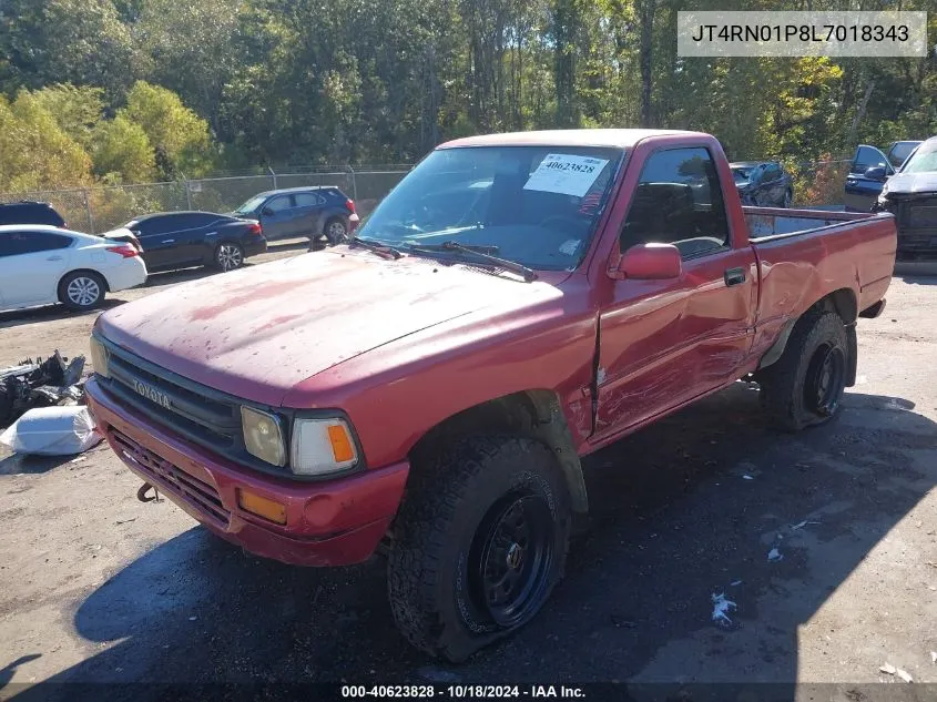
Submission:
<svg viewBox="0 0 937 702">
<path fill-rule="evenodd" d="M 67 360 L 55 350 L 45 360 L 27 358 L 0 368 L 0 425 L 33 407 L 80 405 L 84 400 L 84 356 Z"/>
</svg>

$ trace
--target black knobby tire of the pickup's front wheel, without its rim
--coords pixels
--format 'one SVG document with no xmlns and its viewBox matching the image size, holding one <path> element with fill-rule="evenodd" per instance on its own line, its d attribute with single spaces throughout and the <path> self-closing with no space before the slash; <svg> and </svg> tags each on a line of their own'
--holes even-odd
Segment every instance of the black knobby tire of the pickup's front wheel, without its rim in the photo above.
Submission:
<svg viewBox="0 0 937 702">
<path fill-rule="evenodd" d="M 496 506 L 506 496 L 528 491 L 549 506 L 552 559 L 531 611 L 502 627 L 478 604 L 468 569 L 482 525 L 490 525 Z M 388 558 L 388 594 L 397 627 L 416 648 L 452 662 L 516 631 L 533 618 L 562 578 L 571 521 L 561 469 L 539 441 L 475 437 L 415 466 Z"/>
</svg>

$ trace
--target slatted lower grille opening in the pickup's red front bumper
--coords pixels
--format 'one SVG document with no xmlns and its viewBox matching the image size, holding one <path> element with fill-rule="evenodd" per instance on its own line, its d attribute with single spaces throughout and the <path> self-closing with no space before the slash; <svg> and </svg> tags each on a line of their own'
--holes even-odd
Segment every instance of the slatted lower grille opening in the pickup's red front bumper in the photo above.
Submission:
<svg viewBox="0 0 937 702">
<path fill-rule="evenodd" d="M 227 527 L 231 512 L 224 508 L 221 496 L 213 486 L 189 475 L 113 427 L 110 435 L 118 451 L 144 472 L 159 489 L 185 500 L 218 527 Z"/>
</svg>

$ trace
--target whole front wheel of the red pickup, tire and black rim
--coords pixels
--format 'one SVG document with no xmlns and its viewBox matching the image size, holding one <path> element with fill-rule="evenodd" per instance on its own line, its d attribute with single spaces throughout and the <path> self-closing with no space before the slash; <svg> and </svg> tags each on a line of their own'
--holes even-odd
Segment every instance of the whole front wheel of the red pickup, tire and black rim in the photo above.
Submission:
<svg viewBox="0 0 937 702">
<path fill-rule="evenodd" d="M 388 592 L 415 647 L 452 662 L 530 621 L 560 580 L 571 510 L 544 445 L 476 437 L 414 469 Z"/>
</svg>

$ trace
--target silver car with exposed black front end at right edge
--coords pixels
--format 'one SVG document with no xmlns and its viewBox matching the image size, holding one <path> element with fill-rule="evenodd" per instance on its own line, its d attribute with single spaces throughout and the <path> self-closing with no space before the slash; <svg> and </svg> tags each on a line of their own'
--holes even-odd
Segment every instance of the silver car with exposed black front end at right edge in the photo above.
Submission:
<svg viewBox="0 0 937 702">
<path fill-rule="evenodd" d="M 937 136 L 911 152 L 872 208 L 895 215 L 898 261 L 937 260 Z"/>
</svg>

